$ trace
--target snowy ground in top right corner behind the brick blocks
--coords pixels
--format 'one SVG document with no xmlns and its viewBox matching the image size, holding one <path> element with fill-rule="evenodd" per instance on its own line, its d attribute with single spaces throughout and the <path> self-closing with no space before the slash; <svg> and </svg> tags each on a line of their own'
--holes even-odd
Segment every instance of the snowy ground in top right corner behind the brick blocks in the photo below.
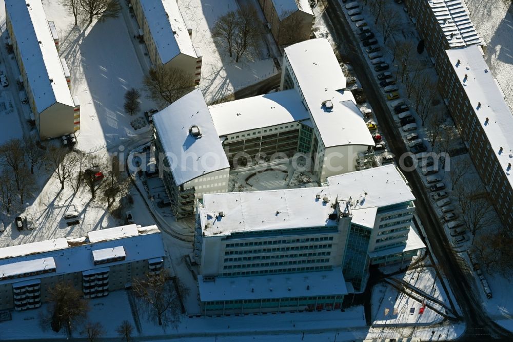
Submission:
<svg viewBox="0 0 513 342">
<path fill-rule="evenodd" d="M 503 0 L 465 0 L 470 19 L 487 44 L 485 60 L 513 111 L 513 5 Z"/>
</svg>

